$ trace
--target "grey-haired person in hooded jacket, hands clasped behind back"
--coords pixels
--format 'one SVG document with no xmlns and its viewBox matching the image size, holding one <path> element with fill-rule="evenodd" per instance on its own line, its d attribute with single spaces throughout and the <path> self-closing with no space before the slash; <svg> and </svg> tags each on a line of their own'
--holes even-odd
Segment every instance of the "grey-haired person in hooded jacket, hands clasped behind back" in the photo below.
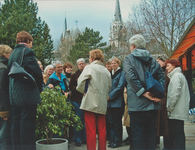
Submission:
<svg viewBox="0 0 195 150">
<path fill-rule="evenodd" d="M 142 35 L 134 35 L 129 40 L 131 54 L 124 60 L 124 73 L 127 81 L 128 111 L 133 133 L 134 149 L 155 149 L 156 119 L 161 106 L 160 99 L 146 91 L 144 74 L 150 71 L 153 77 L 164 86 L 165 75 L 159 63 L 145 49 Z"/>
</svg>

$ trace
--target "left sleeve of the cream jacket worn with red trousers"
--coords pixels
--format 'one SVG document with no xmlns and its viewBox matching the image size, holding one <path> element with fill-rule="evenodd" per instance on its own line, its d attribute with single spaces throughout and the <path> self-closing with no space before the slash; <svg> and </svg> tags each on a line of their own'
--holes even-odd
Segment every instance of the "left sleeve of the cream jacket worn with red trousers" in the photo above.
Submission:
<svg viewBox="0 0 195 150">
<path fill-rule="evenodd" d="M 77 91 L 79 91 L 80 93 L 84 93 L 86 80 L 90 78 L 91 78 L 91 69 L 90 69 L 90 65 L 88 65 L 84 68 L 83 72 L 78 78 L 77 87 L 76 87 Z"/>
</svg>

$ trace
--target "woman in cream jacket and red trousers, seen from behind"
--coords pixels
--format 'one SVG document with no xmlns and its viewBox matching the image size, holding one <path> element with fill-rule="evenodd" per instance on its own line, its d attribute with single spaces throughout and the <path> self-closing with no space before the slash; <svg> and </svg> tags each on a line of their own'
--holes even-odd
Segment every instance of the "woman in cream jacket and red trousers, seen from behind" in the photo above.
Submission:
<svg viewBox="0 0 195 150">
<path fill-rule="evenodd" d="M 96 150 L 96 124 L 98 149 L 106 150 L 107 98 L 111 87 L 111 76 L 104 67 L 104 55 L 96 49 L 89 52 L 90 65 L 78 78 L 77 90 L 84 94 L 80 109 L 84 110 L 87 149 Z"/>
</svg>

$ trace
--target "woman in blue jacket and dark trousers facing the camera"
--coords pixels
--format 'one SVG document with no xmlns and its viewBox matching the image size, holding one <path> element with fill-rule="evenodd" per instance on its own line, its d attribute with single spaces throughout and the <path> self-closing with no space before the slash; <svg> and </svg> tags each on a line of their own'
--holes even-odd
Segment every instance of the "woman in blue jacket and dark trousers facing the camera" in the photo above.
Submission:
<svg viewBox="0 0 195 150">
<path fill-rule="evenodd" d="M 119 67 L 121 61 L 114 57 L 111 59 L 112 87 L 108 96 L 108 119 L 110 124 L 110 141 L 108 147 L 116 148 L 122 142 L 122 115 L 124 113 L 124 87 L 125 75 Z"/>
</svg>

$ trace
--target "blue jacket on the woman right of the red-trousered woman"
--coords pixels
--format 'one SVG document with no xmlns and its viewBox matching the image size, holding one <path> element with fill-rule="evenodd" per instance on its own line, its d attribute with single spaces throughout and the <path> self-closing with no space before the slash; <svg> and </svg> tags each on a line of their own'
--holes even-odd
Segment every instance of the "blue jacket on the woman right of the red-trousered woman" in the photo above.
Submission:
<svg viewBox="0 0 195 150">
<path fill-rule="evenodd" d="M 124 87 L 126 84 L 125 75 L 122 69 L 112 74 L 112 87 L 109 92 L 108 107 L 120 108 L 124 106 Z"/>
</svg>

